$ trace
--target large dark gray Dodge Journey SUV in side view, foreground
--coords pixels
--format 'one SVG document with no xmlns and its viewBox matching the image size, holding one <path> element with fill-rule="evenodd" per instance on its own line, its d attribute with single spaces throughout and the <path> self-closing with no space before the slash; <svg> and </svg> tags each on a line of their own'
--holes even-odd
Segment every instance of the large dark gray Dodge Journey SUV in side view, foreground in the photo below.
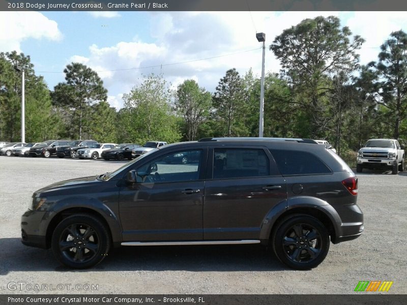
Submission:
<svg viewBox="0 0 407 305">
<path fill-rule="evenodd" d="M 113 172 L 36 191 L 21 240 L 73 268 L 99 263 L 111 246 L 244 243 L 313 268 L 330 241 L 360 236 L 363 214 L 352 170 L 330 146 L 307 142 L 206 138 L 155 148 Z M 194 158 L 166 162 L 177 155 Z"/>
</svg>

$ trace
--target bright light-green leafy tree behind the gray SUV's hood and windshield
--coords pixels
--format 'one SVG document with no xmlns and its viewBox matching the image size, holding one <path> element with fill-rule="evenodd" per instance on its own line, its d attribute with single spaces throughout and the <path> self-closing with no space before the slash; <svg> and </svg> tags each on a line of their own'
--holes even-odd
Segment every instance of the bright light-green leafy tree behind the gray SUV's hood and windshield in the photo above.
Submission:
<svg viewBox="0 0 407 305">
<path fill-rule="evenodd" d="M 121 136 L 139 144 L 179 141 L 179 121 L 171 112 L 171 99 L 168 84 L 161 75 L 144 77 L 139 86 L 134 86 L 123 96 L 125 109 L 120 112 L 120 121 L 124 131 Z"/>
</svg>

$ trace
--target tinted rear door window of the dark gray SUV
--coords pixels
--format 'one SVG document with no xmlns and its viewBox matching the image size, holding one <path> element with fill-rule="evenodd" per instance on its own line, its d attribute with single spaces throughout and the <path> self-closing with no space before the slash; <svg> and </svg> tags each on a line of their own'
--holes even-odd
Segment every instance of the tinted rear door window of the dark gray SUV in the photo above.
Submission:
<svg viewBox="0 0 407 305">
<path fill-rule="evenodd" d="M 213 178 L 270 175 L 270 161 L 263 149 L 215 148 Z"/>
</svg>

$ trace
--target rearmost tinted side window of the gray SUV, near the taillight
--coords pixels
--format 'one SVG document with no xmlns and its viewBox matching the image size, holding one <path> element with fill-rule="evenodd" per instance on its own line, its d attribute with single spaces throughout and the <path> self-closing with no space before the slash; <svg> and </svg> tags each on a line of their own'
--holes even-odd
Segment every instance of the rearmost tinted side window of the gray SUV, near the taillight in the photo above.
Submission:
<svg viewBox="0 0 407 305">
<path fill-rule="evenodd" d="M 283 175 L 326 174 L 332 171 L 315 155 L 307 151 L 270 150 Z"/>
</svg>

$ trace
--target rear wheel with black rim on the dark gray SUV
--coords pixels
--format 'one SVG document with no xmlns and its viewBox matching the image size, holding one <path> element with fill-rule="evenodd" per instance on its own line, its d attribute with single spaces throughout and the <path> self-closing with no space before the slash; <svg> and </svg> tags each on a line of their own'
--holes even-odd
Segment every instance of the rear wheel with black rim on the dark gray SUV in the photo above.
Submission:
<svg viewBox="0 0 407 305">
<path fill-rule="evenodd" d="M 310 240 L 310 236 L 312 238 Z M 290 268 L 308 270 L 325 259 L 329 251 L 329 234 L 325 226 L 308 215 L 294 215 L 283 220 L 273 237 L 278 259 Z"/>
</svg>

